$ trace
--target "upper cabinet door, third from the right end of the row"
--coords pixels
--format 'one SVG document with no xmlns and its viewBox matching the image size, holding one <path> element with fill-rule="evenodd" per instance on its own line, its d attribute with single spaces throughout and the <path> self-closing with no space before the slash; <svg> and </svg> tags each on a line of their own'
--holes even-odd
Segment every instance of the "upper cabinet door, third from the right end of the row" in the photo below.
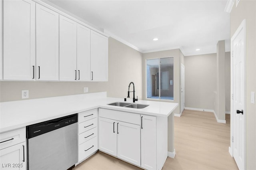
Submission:
<svg viewBox="0 0 256 170">
<path fill-rule="evenodd" d="M 60 80 L 75 81 L 76 22 L 60 15 Z"/>
</svg>

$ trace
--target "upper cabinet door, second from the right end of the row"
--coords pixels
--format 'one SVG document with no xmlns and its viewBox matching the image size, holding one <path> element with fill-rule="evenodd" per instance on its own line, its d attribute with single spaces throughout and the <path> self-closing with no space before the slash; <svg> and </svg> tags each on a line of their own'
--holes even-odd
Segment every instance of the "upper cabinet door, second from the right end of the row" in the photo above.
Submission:
<svg viewBox="0 0 256 170">
<path fill-rule="evenodd" d="M 77 80 L 90 81 L 90 29 L 77 24 Z"/>
</svg>

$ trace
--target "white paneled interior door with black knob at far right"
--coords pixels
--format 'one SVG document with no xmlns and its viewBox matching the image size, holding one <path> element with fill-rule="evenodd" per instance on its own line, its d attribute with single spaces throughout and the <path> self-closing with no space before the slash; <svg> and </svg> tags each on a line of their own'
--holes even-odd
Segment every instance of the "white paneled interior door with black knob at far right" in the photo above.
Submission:
<svg viewBox="0 0 256 170">
<path fill-rule="evenodd" d="M 240 170 L 245 169 L 245 20 L 231 39 L 233 156 Z M 243 113 L 242 113 L 243 112 Z"/>
</svg>

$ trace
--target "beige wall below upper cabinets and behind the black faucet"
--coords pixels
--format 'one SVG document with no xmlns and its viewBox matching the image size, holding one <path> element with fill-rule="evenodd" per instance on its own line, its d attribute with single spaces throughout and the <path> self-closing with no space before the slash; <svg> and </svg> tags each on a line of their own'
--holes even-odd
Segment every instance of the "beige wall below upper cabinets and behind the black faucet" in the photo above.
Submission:
<svg viewBox="0 0 256 170">
<path fill-rule="evenodd" d="M 109 38 L 108 51 L 108 82 L 0 81 L 0 102 L 22 100 L 22 90 L 29 90 L 29 99 L 37 99 L 83 94 L 84 87 L 89 93 L 107 91 L 110 97 L 127 97 L 130 81 L 134 81 L 141 99 L 142 54 L 113 38 Z"/>
</svg>

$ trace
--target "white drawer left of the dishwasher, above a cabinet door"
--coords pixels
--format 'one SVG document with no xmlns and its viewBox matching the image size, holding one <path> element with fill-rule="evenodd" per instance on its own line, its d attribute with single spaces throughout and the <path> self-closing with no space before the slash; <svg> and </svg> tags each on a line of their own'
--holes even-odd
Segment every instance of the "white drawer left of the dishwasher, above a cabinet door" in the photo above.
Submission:
<svg viewBox="0 0 256 170">
<path fill-rule="evenodd" d="M 0 149 L 26 141 L 26 128 L 20 128 L 0 134 Z"/>
</svg>

